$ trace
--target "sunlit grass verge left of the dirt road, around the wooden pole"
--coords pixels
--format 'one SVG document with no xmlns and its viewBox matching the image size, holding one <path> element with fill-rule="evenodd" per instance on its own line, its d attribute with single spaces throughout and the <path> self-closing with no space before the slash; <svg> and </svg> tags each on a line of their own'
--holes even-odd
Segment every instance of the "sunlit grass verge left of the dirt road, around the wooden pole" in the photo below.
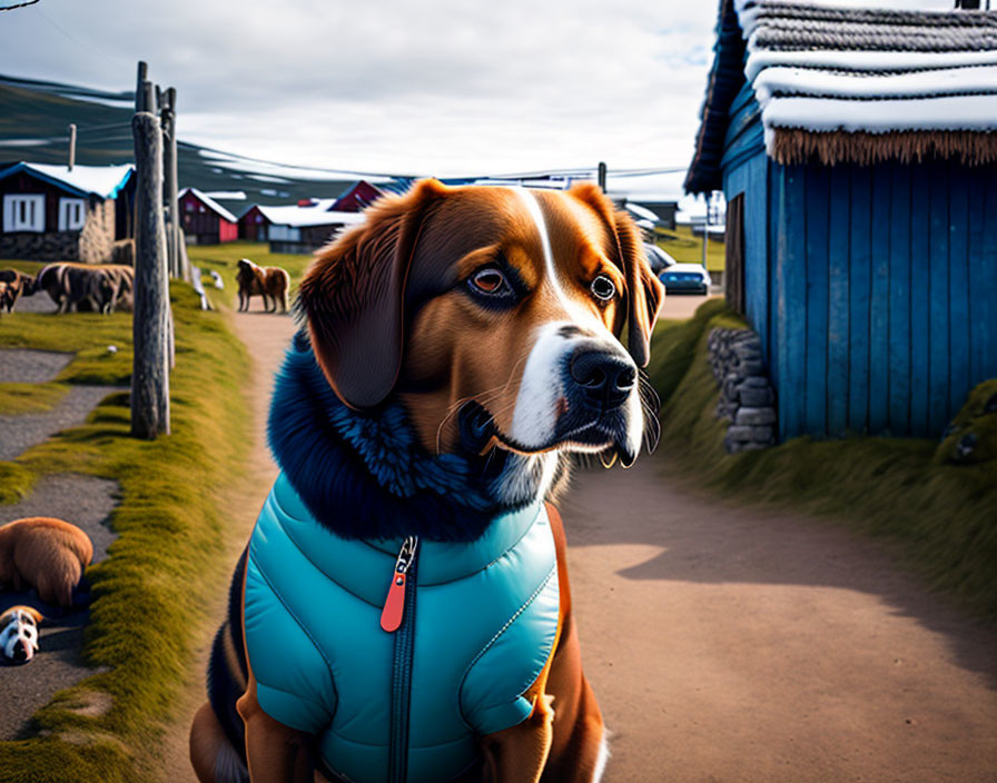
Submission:
<svg viewBox="0 0 997 783">
<path fill-rule="evenodd" d="M 0 493 L 2 502 L 50 473 L 112 478 L 120 487 L 111 519 L 119 538 L 88 572 L 96 601 L 83 655 L 100 671 L 39 710 L 31 736 L 0 743 L 0 782 L 149 779 L 148 759 L 191 657 L 190 621 L 207 598 L 198 577 L 220 567 L 223 492 L 243 475 L 250 443 L 244 346 L 225 314 L 198 309 L 189 287 L 175 285 L 172 300 L 172 435 L 132 438 L 128 394 L 120 393 L 82 426 L 0 463 L 0 486 L 11 479 L 18 489 Z M 127 384 L 131 319 L 17 314 L 4 319 L 0 345 L 77 353 L 62 383 Z"/>
</svg>

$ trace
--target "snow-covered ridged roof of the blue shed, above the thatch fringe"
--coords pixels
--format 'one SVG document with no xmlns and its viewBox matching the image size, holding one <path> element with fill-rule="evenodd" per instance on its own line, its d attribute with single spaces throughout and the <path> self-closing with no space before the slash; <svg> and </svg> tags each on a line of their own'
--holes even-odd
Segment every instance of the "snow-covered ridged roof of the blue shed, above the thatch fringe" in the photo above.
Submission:
<svg viewBox="0 0 997 783">
<path fill-rule="evenodd" d="M 770 152 L 779 128 L 997 130 L 995 13 L 734 3 Z"/>
</svg>

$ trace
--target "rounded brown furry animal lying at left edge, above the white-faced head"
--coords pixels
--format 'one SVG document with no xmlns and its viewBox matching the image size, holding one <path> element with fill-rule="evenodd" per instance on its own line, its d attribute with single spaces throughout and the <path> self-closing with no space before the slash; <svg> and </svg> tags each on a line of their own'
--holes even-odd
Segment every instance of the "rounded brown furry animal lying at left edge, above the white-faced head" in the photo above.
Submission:
<svg viewBox="0 0 997 783">
<path fill-rule="evenodd" d="M 34 516 L 0 527 L 0 584 L 34 587 L 46 603 L 72 606 L 72 591 L 93 559 L 93 544 L 79 527 Z"/>
</svg>

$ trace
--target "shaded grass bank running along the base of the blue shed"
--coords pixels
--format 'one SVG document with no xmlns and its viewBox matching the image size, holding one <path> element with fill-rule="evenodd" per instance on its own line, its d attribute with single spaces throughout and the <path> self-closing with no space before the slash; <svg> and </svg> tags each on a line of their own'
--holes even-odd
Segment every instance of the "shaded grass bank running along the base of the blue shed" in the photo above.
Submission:
<svg viewBox="0 0 997 783">
<path fill-rule="evenodd" d="M 707 338 L 713 327 L 738 325 L 722 300 L 658 325 L 648 370 L 662 398 L 661 453 L 681 455 L 680 470 L 723 495 L 891 538 L 935 587 L 997 617 L 997 459 L 951 465 L 936 456 L 935 440 L 887 437 L 801 437 L 728 455 Z"/>
</svg>

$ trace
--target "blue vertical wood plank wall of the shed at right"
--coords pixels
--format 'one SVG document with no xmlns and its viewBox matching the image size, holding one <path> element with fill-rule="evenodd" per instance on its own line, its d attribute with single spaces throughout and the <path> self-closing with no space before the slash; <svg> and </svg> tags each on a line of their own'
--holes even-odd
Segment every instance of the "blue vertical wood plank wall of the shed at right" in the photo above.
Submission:
<svg viewBox="0 0 997 783">
<path fill-rule="evenodd" d="M 759 152 L 727 174 L 781 438 L 936 436 L 997 377 L 997 167 Z"/>
</svg>

